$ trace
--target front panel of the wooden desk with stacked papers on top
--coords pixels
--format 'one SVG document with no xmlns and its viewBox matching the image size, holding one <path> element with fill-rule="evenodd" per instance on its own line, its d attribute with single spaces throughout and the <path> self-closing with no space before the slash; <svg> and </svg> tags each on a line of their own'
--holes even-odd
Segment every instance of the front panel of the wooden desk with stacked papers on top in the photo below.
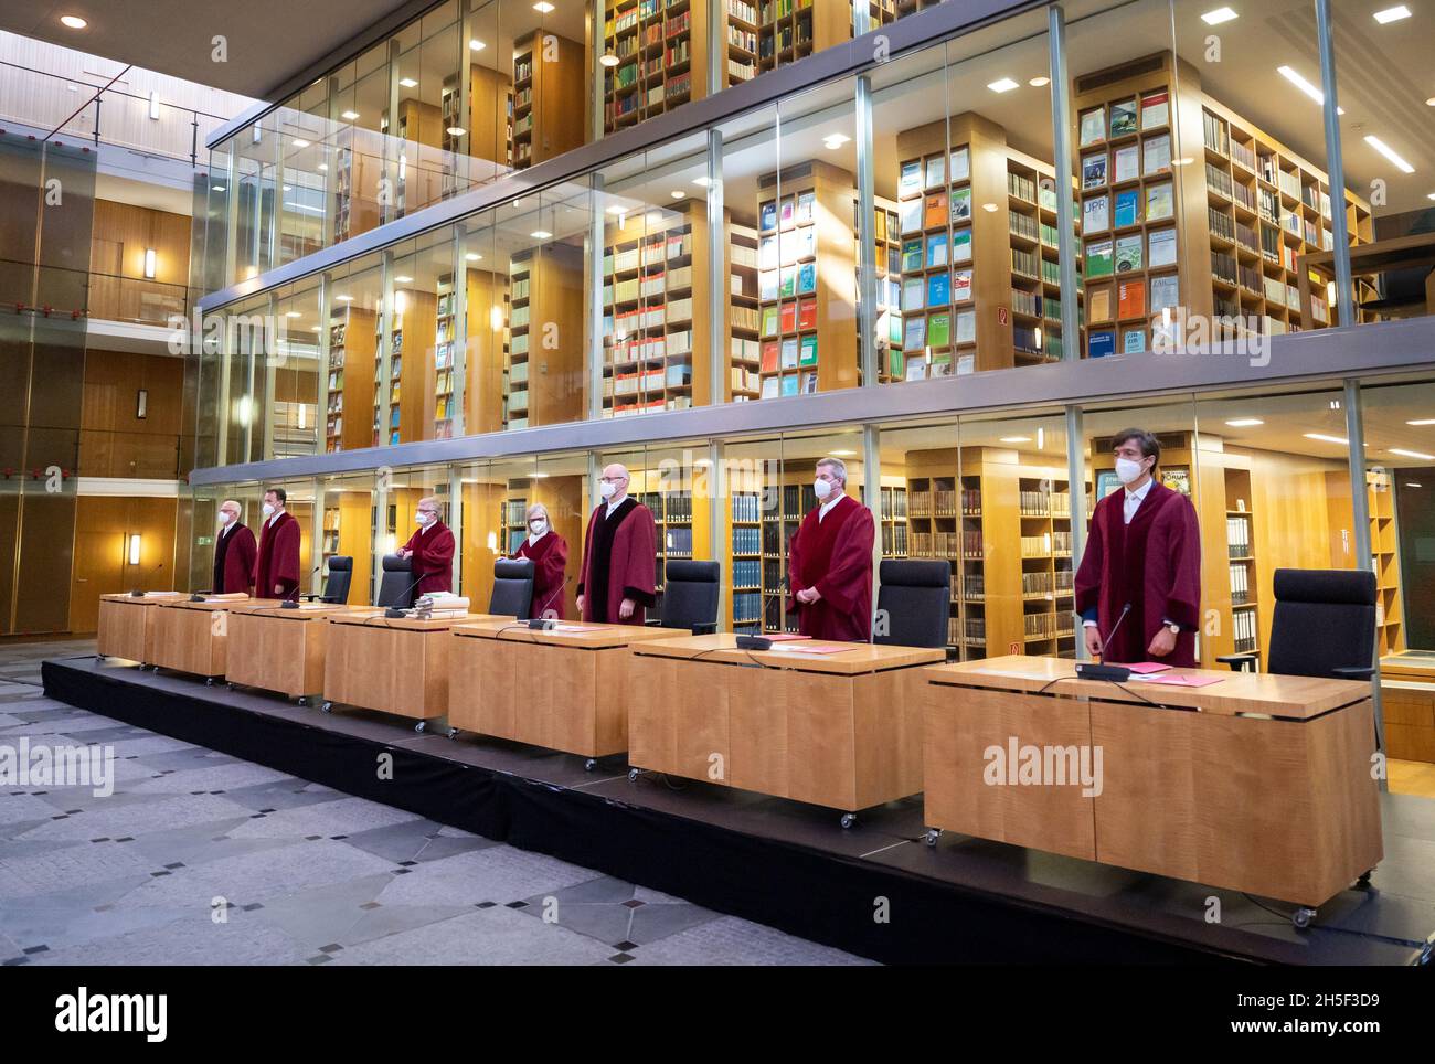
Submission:
<svg viewBox="0 0 1435 1064">
<path fill-rule="evenodd" d="M 415 720 L 448 713 L 446 628 L 331 624 L 324 698 Z"/>
</svg>

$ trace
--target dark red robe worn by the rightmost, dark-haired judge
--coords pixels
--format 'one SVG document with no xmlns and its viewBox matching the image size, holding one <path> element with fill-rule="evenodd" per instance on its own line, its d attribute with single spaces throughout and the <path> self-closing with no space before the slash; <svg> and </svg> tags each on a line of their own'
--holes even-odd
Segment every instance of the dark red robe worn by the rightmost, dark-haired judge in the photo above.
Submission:
<svg viewBox="0 0 1435 1064">
<path fill-rule="evenodd" d="M 1076 612 L 1096 607 L 1096 630 L 1111 638 L 1106 660 L 1135 664 L 1152 658 L 1152 637 L 1171 619 L 1181 625 L 1167 665 L 1195 668 L 1201 624 L 1201 529 L 1195 508 L 1180 492 L 1152 483 L 1131 523 L 1124 519 L 1125 489 L 1096 503 L 1086 552 L 1076 571 Z M 1121 611 L 1131 612 L 1112 635 Z"/>
</svg>

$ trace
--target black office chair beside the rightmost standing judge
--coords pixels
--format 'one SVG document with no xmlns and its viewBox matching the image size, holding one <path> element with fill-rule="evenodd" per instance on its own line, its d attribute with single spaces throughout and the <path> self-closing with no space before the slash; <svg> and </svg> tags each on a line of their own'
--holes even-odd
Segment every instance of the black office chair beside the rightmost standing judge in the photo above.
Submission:
<svg viewBox="0 0 1435 1064">
<path fill-rule="evenodd" d="M 1365 569 L 1276 569 L 1266 671 L 1327 680 L 1375 675 L 1375 574 Z M 1254 654 L 1224 654 L 1233 671 Z"/>
</svg>

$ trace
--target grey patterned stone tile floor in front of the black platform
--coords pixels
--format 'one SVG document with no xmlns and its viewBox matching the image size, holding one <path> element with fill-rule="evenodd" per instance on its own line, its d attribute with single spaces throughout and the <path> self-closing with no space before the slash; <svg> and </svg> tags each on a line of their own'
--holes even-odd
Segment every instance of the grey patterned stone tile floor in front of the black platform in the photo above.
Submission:
<svg viewBox="0 0 1435 1064">
<path fill-rule="evenodd" d="M 0 962 L 868 964 L 682 898 L 44 698 L 0 644 L 0 747 L 110 744 L 115 793 L 0 789 Z"/>
</svg>

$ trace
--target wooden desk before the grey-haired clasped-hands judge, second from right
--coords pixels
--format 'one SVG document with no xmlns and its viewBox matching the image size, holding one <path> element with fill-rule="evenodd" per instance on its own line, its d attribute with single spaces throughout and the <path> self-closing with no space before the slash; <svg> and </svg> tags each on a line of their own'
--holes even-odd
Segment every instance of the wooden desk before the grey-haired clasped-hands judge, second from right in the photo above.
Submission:
<svg viewBox="0 0 1435 1064">
<path fill-rule="evenodd" d="M 633 647 L 629 764 L 839 809 L 844 827 L 918 793 L 926 678 L 914 667 L 946 652 L 782 645 L 742 651 L 722 632 Z"/>
</svg>

